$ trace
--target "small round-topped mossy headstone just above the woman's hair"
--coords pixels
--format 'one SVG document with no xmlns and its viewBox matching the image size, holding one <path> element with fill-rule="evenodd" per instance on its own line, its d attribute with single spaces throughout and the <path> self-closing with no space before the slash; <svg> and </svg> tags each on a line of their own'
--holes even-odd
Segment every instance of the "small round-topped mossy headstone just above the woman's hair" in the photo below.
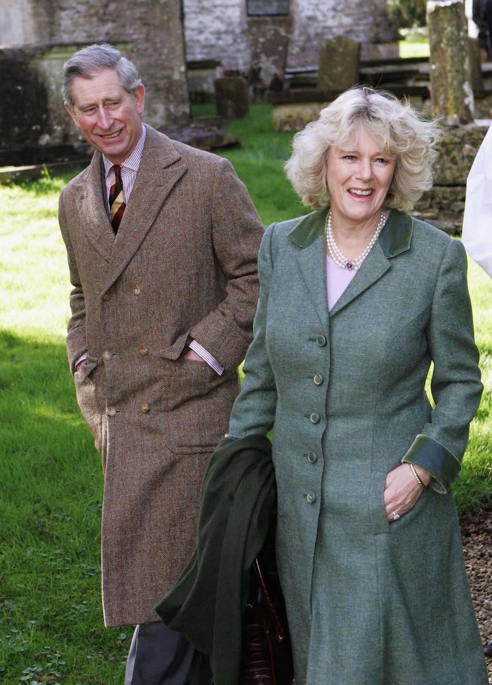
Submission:
<svg viewBox="0 0 492 685">
<path fill-rule="evenodd" d="M 325 40 L 319 49 L 318 88 L 346 90 L 359 81 L 360 43 L 347 36 Z"/>
</svg>

